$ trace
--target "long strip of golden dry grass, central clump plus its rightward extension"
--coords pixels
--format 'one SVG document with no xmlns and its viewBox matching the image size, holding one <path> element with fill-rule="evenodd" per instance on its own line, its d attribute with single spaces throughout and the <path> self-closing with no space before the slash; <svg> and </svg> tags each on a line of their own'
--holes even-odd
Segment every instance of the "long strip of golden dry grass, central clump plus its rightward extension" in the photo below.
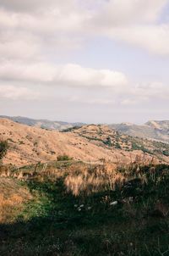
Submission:
<svg viewBox="0 0 169 256">
<path fill-rule="evenodd" d="M 123 186 L 123 183 L 134 178 L 139 178 L 142 183 L 146 183 L 146 175 L 140 170 L 145 165 L 152 166 L 150 170 L 155 169 L 158 162 L 155 159 L 143 161 L 139 156 L 130 164 L 112 164 L 111 162 L 103 164 L 89 165 L 81 164 L 77 169 L 72 166 L 64 180 L 68 192 L 75 196 L 80 193 L 90 194 L 91 192 L 100 192 L 104 190 L 115 190 L 116 186 Z"/>
</svg>

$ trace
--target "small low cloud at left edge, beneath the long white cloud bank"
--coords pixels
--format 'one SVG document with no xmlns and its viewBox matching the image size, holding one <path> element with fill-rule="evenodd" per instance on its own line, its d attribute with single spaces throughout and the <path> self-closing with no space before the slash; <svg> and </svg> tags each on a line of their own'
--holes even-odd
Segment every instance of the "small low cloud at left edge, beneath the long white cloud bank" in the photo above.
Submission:
<svg viewBox="0 0 169 256">
<path fill-rule="evenodd" d="M 35 100 L 38 98 L 38 93 L 22 86 L 0 86 L 0 98 Z"/>
</svg>

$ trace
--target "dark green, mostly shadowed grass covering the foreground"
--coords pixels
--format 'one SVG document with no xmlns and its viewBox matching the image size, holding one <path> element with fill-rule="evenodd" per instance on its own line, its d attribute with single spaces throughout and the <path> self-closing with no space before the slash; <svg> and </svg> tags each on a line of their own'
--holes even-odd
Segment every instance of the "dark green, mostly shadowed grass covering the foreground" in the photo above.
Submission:
<svg viewBox="0 0 169 256">
<path fill-rule="evenodd" d="M 15 223 L 0 225 L 0 255 L 169 255 L 169 217 L 155 209 L 169 206 L 169 167 L 150 168 L 140 167 L 144 182 L 133 169 L 115 191 L 88 196 L 68 193 L 64 176 L 24 181 L 34 199 Z"/>
</svg>

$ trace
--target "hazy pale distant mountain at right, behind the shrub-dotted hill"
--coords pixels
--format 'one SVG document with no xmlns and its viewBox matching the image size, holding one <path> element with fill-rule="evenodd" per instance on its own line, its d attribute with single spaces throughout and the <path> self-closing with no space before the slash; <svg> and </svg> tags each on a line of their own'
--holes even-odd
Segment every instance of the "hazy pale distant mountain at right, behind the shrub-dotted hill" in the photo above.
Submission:
<svg viewBox="0 0 169 256">
<path fill-rule="evenodd" d="M 144 125 L 131 123 L 112 124 L 110 128 L 130 136 L 144 137 L 169 143 L 169 121 L 150 120 Z"/>
</svg>

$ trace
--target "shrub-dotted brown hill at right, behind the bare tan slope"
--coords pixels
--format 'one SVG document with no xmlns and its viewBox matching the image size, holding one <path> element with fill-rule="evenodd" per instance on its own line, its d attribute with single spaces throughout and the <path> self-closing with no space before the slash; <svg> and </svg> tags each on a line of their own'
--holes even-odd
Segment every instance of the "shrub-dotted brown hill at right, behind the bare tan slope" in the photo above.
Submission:
<svg viewBox="0 0 169 256">
<path fill-rule="evenodd" d="M 107 125 L 85 125 L 73 129 L 73 131 L 100 147 L 106 145 L 109 148 L 116 148 L 131 153 L 135 150 L 140 150 L 143 153 L 163 159 L 169 156 L 168 144 L 121 134 L 116 130 L 110 129 Z"/>
</svg>

